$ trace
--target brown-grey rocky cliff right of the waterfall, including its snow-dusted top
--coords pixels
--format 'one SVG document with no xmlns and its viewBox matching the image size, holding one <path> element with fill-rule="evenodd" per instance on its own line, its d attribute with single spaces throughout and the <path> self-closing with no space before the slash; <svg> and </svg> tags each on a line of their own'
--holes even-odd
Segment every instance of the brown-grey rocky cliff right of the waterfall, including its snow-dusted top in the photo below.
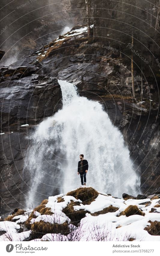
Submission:
<svg viewBox="0 0 160 256">
<path fill-rule="evenodd" d="M 80 95 L 104 105 L 113 124 L 122 131 L 135 167 L 140 169 L 143 192 L 158 189 L 160 115 L 154 78 L 146 76 L 142 81 L 142 99 L 141 77 L 134 73 L 134 100 L 130 63 L 124 64 L 118 49 L 91 40 L 81 27 L 44 46 L 38 62 L 49 74 L 76 84 Z"/>
</svg>

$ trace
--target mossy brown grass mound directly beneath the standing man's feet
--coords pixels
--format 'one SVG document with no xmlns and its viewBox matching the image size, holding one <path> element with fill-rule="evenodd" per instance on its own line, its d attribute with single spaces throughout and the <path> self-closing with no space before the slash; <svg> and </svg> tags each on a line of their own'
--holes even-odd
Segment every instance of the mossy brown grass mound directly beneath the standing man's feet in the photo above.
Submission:
<svg viewBox="0 0 160 256">
<path fill-rule="evenodd" d="M 95 198 L 98 197 L 98 191 L 92 187 L 77 188 L 74 191 L 70 191 L 66 194 L 67 196 L 73 196 L 76 199 L 80 199 L 82 204 L 90 204 Z"/>
</svg>

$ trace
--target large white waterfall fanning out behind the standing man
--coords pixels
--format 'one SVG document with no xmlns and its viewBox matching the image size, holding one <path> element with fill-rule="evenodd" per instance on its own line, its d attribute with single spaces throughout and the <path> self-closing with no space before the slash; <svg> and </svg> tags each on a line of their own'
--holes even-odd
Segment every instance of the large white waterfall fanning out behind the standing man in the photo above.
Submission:
<svg viewBox="0 0 160 256">
<path fill-rule="evenodd" d="M 63 108 L 41 122 L 32 136 L 27 166 L 33 182 L 28 201 L 39 203 L 46 196 L 79 187 L 80 154 L 89 163 L 87 185 L 113 196 L 136 195 L 140 179 L 120 131 L 100 103 L 78 96 L 73 84 L 58 82 Z"/>
</svg>

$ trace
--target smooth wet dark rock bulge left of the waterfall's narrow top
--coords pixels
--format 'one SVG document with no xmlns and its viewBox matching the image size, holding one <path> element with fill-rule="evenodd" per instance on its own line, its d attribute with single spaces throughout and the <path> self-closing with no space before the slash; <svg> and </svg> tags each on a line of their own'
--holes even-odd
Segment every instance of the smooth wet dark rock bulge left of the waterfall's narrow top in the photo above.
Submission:
<svg viewBox="0 0 160 256">
<path fill-rule="evenodd" d="M 3 81 L 2 132 L 8 131 L 8 125 L 11 131 L 19 131 L 21 125 L 36 125 L 52 116 L 61 108 L 61 98 L 60 86 L 53 77 L 32 74 L 19 80 Z"/>
</svg>

